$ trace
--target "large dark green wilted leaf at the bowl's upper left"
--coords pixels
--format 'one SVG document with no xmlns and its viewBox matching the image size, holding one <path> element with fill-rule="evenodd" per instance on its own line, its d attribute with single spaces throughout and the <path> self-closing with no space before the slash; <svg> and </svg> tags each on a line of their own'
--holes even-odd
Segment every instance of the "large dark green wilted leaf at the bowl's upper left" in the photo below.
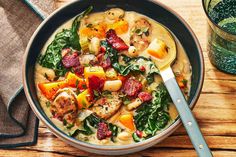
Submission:
<svg viewBox="0 0 236 157">
<path fill-rule="evenodd" d="M 81 19 L 91 12 L 92 6 L 79 14 L 73 21 L 71 29 L 63 29 L 55 35 L 54 40 L 47 47 L 46 52 L 40 55 L 38 63 L 46 68 L 53 69 L 57 76 L 64 76 L 67 69 L 61 63 L 61 50 L 64 48 L 71 48 L 80 50 L 79 35 L 77 30 L 80 25 Z"/>
</svg>

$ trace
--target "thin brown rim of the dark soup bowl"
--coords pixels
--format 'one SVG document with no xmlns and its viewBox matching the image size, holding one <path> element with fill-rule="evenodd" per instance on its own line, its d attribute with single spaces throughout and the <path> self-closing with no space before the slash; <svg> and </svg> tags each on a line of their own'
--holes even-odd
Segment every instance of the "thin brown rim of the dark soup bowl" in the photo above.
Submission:
<svg viewBox="0 0 236 157">
<path fill-rule="evenodd" d="M 195 33 L 193 32 L 193 30 L 190 28 L 190 26 L 187 24 L 187 22 L 179 15 L 177 14 L 174 10 L 172 10 L 170 7 L 157 2 L 155 0 L 147 0 L 155 5 L 159 5 L 160 7 L 166 9 L 167 11 L 169 11 L 170 13 L 172 13 L 176 18 L 179 19 L 179 21 L 188 29 L 189 33 L 191 34 L 197 50 L 199 52 L 199 58 L 200 58 L 200 78 L 199 78 L 199 85 L 196 89 L 196 94 L 193 96 L 191 103 L 189 104 L 189 107 L 191 109 L 194 108 L 194 106 L 197 103 L 197 100 L 201 94 L 201 89 L 203 86 L 203 82 L 204 82 L 204 71 L 205 71 L 205 67 L 204 67 L 204 59 L 203 59 L 203 53 L 202 53 L 202 49 L 201 46 L 199 44 L 199 41 L 195 35 Z M 167 136 L 169 136 L 173 131 L 175 131 L 181 124 L 181 120 L 178 117 L 175 122 L 173 122 L 170 126 L 168 126 L 167 128 L 165 128 L 161 133 L 146 139 L 142 142 L 138 142 L 138 143 L 132 143 L 132 144 L 127 144 L 127 145 L 97 145 L 97 144 L 91 144 L 91 143 L 87 143 L 84 141 L 80 141 L 77 140 L 75 138 L 69 137 L 68 135 L 66 135 L 65 133 L 63 133 L 61 130 L 59 130 L 58 128 L 54 127 L 53 125 L 51 125 L 47 119 L 44 118 L 44 116 L 40 113 L 40 111 L 38 111 L 36 105 L 33 102 L 32 97 L 29 94 L 29 86 L 28 83 L 26 81 L 26 62 L 28 60 L 28 54 L 29 54 L 29 49 L 32 45 L 32 42 L 34 41 L 35 36 L 38 34 L 39 30 L 44 26 L 45 23 L 47 23 L 47 21 L 51 20 L 51 18 L 53 16 L 55 16 L 58 12 L 60 12 L 61 10 L 65 9 L 66 7 L 73 5 L 74 3 L 77 3 L 78 1 L 72 1 L 69 2 L 68 4 L 66 4 L 65 6 L 58 8 L 57 10 L 55 10 L 52 14 L 50 14 L 39 26 L 38 28 L 35 30 L 35 32 L 33 33 L 33 35 L 31 36 L 28 45 L 26 47 L 25 53 L 24 53 L 24 57 L 23 57 L 23 70 L 22 70 L 22 77 L 23 77 L 23 87 L 24 87 L 24 92 L 26 95 L 26 98 L 30 104 L 31 109 L 33 110 L 33 112 L 36 114 L 36 116 L 47 126 L 47 128 L 52 131 L 53 134 L 55 134 L 57 137 L 62 138 L 64 141 L 72 144 L 72 145 L 76 145 L 76 146 L 81 146 L 83 148 L 87 148 L 87 149 L 93 149 L 93 150 L 98 150 L 98 151 L 104 151 L 104 150 L 108 150 L 108 151 L 118 151 L 118 150 L 128 150 L 128 149 L 134 149 L 136 147 L 139 146 L 144 146 L 146 144 L 150 144 L 153 143 L 156 144 L 157 142 L 160 142 L 161 140 L 165 139 Z M 155 142 L 156 141 L 156 142 Z"/>
</svg>

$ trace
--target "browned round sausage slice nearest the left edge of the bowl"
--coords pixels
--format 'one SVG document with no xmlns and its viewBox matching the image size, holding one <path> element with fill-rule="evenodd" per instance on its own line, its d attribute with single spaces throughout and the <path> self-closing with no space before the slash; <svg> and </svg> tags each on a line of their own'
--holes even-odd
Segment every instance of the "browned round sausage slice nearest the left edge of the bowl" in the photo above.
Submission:
<svg viewBox="0 0 236 157">
<path fill-rule="evenodd" d="M 50 111 L 55 118 L 63 121 L 63 123 L 74 124 L 78 112 L 78 105 L 74 92 L 69 88 L 59 90 L 50 106 Z"/>
</svg>

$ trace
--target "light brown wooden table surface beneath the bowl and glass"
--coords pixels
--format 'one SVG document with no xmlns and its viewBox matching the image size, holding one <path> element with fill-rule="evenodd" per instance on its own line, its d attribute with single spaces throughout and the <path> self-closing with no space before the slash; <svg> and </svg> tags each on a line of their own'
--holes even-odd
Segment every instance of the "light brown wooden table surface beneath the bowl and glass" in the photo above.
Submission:
<svg viewBox="0 0 236 157">
<path fill-rule="evenodd" d="M 57 0 L 57 6 L 68 0 Z M 158 0 L 161 1 L 161 0 Z M 200 99 L 193 112 L 215 157 L 236 156 L 236 76 L 214 68 L 207 56 L 207 22 L 201 0 L 161 1 L 179 13 L 196 33 L 205 59 L 205 82 Z M 42 123 L 35 146 L 0 150 L 0 156 L 96 156 L 62 142 Z M 192 144 L 181 126 L 163 142 L 142 152 L 128 156 L 194 157 Z"/>
</svg>

